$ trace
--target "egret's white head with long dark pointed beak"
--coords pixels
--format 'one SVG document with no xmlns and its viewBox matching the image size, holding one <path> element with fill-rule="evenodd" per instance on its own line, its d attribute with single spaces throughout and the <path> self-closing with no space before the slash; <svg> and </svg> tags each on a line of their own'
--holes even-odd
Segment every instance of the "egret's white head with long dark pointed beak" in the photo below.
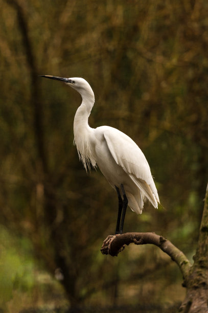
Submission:
<svg viewBox="0 0 208 313">
<path fill-rule="evenodd" d="M 51 75 L 40 75 L 40 76 L 65 82 L 68 86 L 75 89 L 82 96 L 82 98 L 83 96 L 94 97 L 92 88 L 90 87 L 89 83 L 84 78 L 81 78 L 81 77 L 64 78 L 64 77 L 57 77 L 57 76 L 51 76 Z"/>
</svg>

